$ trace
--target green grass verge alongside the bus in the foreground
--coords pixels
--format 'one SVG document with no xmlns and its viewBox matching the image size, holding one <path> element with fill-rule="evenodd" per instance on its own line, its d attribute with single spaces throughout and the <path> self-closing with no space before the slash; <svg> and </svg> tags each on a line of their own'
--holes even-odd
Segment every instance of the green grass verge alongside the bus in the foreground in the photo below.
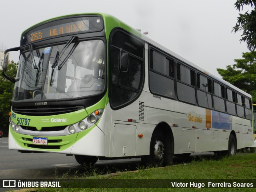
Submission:
<svg viewBox="0 0 256 192">
<path fill-rule="evenodd" d="M 118 174 L 106 174 L 105 176 L 97 174 L 96 166 L 85 167 L 85 173 L 82 177 L 74 176 L 74 188 L 48 188 L 48 189 L 34 189 L 36 192 L 160 192 L 160 191 L 256 191 L 256 188 L 79 188 L 81 184 L 78 179 L 90 180 L 99 184 L 102 182 L 126 182 L 134 181 L 136 186 L 140 186 L 148 182 L 154 184 L 154 180 L 159 179 L 162 182 L 168 180 L 184 180 L 189 182 L 192 179 L 224 179 L 224 180 L 236 180 L 236 179 L 256 179 L 256 154 L 244 154 L 238 153 L 236 156 L 216 157 L 210 158 L 194 157 L 191 162 L 183 164 L 174 164 L 163 168 L 146 168 L 138 166 L 138 170 L 133 172 L 125 172 Z M 66 178 L 68 174 L 64 175 Z M 76 183 L 77 181 L 77 183 Z M 96 182 L 95 182 L 96 181 Z M 161 181 L 160 181 L 161 182 Z M 170 182 L 170 181 L 167 181 Z M 157 182 L 156 182 L 157 183 Z M 255 183 L 255 182 L 254 182 Z M 159 183 L 158 183 L 159 184 Z M 255 183 L 256 184 L 256 183 Z M 254 186 L 255 186 L 254 184 Z M 114 185 L 112 184 L 112 187 Z"/>
</svg>

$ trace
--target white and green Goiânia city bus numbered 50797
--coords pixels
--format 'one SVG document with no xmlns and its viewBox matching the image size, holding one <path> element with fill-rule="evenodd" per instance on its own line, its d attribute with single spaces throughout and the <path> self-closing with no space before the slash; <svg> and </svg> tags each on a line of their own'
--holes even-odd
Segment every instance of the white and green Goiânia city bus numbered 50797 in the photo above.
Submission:
<svg viewBox="0 0 256 192">
<path fill-rule="evenodd" d="M 10 149 L 162 165 L 254 144 L 249 94 L 108 14 L 41 22 L 11 51 Z"/>
</svg>

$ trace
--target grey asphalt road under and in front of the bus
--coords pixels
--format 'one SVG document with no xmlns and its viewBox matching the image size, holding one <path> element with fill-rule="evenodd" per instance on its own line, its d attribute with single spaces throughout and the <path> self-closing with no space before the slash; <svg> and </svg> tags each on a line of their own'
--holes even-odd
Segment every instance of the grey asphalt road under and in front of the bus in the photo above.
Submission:
<svg viewBox="0 0 256 192">
<path fill-rule="evenodd" d="M 198 154 L 196 154 L 198 155 Z M 201 156 L 210 157 L 213 153 L 200 153 Z M 174 163 L 186 163 L 189 158 L 176 158 Z M 72 178 L 90 175 L 92 172 L 106 174 L 106 172 L 117 172 L 136 170 L 141 166 L 140 159 L 106 160 L 96 162 L 95 166 L 83 167 L 78 164 L 74 156 L 66 156 L 57 153 L 32 153 L 22 154 L 16 150 L 8 149 L 8 138 L 0 138 L 0 179 L 55 179 Z"/>
</svg>

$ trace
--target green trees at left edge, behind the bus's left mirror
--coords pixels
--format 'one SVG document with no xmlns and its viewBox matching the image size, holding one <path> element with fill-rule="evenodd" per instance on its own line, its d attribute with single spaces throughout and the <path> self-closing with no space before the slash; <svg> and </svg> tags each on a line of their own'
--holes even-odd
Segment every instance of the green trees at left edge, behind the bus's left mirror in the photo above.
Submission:
<svg viewBox="0 0 256 192">
<path fill-rule="evenodd" d="M 18 63 L 13 61 L 7 65 L 6 74 L 10 77 L 15 77 L 17 73 Z M 12 92 L 14 84 L 8 81 L 2 75 L 2 69 L 0 70 L 0 128 L 5 135 L 8 135 L 9 126 L 9 112 L 12 105 Z"/>
</svg>

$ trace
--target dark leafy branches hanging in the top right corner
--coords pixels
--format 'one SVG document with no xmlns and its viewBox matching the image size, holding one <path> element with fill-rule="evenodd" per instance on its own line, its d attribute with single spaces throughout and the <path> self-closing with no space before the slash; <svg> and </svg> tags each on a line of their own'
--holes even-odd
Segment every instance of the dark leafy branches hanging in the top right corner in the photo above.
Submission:
<svg viewBox="0 0 256 192">
<path fill-rule="evenodd" d="M 253 9 L 250 13 L 246 11 L 244 14 L 239 14 L 233 31 L 235 33 L 243 32 L 240 42 L 246 42 L 248 50 L 252 51 L 256 49 L 256 0 L 237 0 L 235 8 L 240 11 L 245 5 L 249 5 Z"/>
</svg>

